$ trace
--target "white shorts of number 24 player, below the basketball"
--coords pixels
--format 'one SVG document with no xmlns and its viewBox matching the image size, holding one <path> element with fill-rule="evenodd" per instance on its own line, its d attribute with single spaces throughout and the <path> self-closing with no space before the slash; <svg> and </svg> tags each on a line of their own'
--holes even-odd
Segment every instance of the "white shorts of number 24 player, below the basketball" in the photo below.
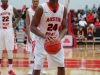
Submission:
<svg viewBox="0 0 100 75">
<path fill-rule="evenodd" d="M 56 55 L 49 55 L 44 49 L 44 40 L 36 36 L 35 41 L 36 47 L 34 49 L 34 69 L 42 69 L 45 58 L 47 58 L 49 68 L 64 67 L 63 47 Z"/>
</svg>

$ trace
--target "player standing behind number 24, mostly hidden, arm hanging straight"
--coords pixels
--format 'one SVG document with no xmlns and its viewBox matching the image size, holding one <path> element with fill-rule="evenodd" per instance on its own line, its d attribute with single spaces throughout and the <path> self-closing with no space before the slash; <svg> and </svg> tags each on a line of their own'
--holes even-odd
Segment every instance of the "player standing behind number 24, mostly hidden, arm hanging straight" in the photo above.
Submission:
<svg viewBox="0 0 100 75">
<path fill-rule="evenodd" d="M 34 46 L 35 46 L 35 39 L 33 39 L 32 37 L 34 37 L 34 34 L 32 32 L 30 32 L 30 24 L 32 22 L 32 17 L 34 16 L 35 13 L 35 9 L 38 7 L 39 4 L 39 0 L 32 0 L 32 6 L 27 10 L 26 12 L 26 28 L 27 28 L 27 35 L 28 35 L 28 41 L 27 41 L 27 51 L 29 51 L 30 55 L 29 55 L 29 60 L 30 60 L 30 70 L 28 74 L 32 74 L 33 68 L 34 68 L 34 56 L 33 56 L 33 51 L 34 50 Z M 41 70 L 42 74 L 45 74 L 45 70 L 42 69 Z"/>
</svg>

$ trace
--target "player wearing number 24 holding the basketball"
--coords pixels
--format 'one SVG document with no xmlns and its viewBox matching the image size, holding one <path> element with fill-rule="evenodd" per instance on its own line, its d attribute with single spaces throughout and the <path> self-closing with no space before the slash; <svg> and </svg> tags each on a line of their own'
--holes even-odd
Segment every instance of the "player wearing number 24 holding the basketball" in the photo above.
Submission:
<svg viewBox="0 0 100 75">
<path fill-rule="evenodd" d="M 40 70 L 43 66 L 44 58 L 48 58 L 48 67 L 58 68 L 58 75 L 65 75 L 64 68 L 64 49 L 55 55 L 49 55 L 44 50 L 44 41 L 51 40 L 52 37 L 56 37 L 59 27 L 62 26 L 62 30 L 58 38 L 61 40 L 66 34 L 66 8 L 58 3 L 58 0 L 49 0 L 37 7 L 32 23 L 31 31 L 36 34 L 34 49 L 34 71 L 32 75 L 40 75 Z M 37 29 L 38 23 L 40 27 Z"/>
</svg>

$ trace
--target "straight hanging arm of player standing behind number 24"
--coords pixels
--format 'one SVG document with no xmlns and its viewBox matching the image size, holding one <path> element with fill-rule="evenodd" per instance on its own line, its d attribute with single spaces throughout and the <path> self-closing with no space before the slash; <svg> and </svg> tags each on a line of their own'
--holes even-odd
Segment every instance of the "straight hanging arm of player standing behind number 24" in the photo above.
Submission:
<svg viewBox="0 0 100 75">
<path fill-rule="evenodd" d="M 28 10 L 26 11 L 26 30 L 27 30 L 27 36 L 28 36 L 28 41 L 31 43 L 31 37 L 30 37 L 30 16 Z"/>
</svg>

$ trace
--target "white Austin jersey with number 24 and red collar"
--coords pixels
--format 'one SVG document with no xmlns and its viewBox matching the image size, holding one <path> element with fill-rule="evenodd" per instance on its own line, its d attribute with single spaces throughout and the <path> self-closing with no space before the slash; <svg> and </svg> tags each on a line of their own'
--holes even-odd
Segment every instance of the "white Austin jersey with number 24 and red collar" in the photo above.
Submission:
<svg viewBox="0 0 100 75">
<path fill-rule="evenodd" d="M 64 6 L 58 4 L 55 13 L 51 10 L 48 2 L 41 4 L 41 6 L 43 14 L 40 21 L 40 31 L 49 36 L 56 36 L 63 19 Z"/>
</svg>

